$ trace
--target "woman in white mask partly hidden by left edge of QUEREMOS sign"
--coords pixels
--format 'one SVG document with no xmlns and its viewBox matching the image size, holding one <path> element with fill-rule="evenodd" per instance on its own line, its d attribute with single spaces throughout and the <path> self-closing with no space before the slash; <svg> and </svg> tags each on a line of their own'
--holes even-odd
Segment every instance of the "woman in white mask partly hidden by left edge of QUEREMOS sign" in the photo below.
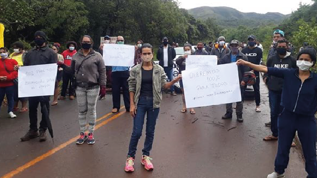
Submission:
<svg viewBox="0 0 317 178">
<path fill-rule="evenodd" d="M 184 45 L 184 55 L 183 56 L 179 56 L 176 59 L 176 64 L 179 68 L 179 74 L 182 73 L 183 70 L 185 70 L 186 68 L 186 58 L 188 57 L 188 55 L 192 54 L 192 45 L 190 44 L 185 44 Z M 183 108 L 180 112 L 185 113 L 187 112 L 187 108 L 186 108 L 186 102 L 185 102 L 185 95 L 184 95 L 184 86 L 183 86 L 183 80 L 179 81 L 179 85 L 180 88 L 182 89 L 182 93 L 183 93 Z M 195 110 L 194 108 L 190 108 L 190 113 L 191 114 L 195 114 Z"/>
</svg>

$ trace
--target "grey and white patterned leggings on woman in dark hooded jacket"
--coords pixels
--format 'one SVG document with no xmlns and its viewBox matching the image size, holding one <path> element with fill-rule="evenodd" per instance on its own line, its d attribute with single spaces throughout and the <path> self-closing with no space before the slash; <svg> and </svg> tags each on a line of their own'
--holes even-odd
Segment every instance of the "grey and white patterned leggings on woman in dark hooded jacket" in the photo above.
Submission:
<svg viewBox="0 0 317 178">
<path fill-rule="evenodd" d="M 79 125 L 80 132 L 85 133 L 87 131 L 87 119 L 89 125 L 89 133 L 94 133 L 96 124 L 96 104 L 99 95 L 99 86 L 90 88 L 80 88 L 76 89 L 78 112 L 79 112 Z"/>
</svg>

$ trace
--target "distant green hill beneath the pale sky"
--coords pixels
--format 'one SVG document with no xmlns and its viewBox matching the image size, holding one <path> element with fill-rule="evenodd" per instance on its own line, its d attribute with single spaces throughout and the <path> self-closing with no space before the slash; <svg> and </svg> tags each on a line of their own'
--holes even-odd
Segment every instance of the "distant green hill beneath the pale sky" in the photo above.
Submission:
<svg viewBox="0 0 317 178">
<path fill-rule="evenodd" d="M 239 25 L 255 27 L 266 24 L 279 24 L 289 16 L 278 12 L 267 12 L 265 14 L 255 12 L 244 13 L 231 7 L 209 6 L 189 9 L 188 13 L 196 19 L 206 20 L 207 18 L 213 18 L 222 27 L 236 27 Z"/>
</svg>

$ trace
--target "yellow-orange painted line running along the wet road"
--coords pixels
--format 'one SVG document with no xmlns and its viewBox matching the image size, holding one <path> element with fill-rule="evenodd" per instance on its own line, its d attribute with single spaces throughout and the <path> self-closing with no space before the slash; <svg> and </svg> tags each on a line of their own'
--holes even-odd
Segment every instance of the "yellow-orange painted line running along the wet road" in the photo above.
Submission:
<svg viewBox="0 0 317 178">
<path fill-rule="evenodd" d="M 106 124 L 109 123 L 110 121 L 112 121 L 112 120 L 118 118 L 119 116 L 121 116 L 121 115 L 124 114 L 124 113 L 125 113 L 125 111 L 121 111 L 121 112 L 119 112 L 119 113 L 117 113 L 117 114 L 111 116 L 111 117 L 110 117 L 109 119 L 107 119 L 106 121 L 103 121 L 102 123 L 98 124 L 98 125 L 95 127 L 95 130 L 97 130 L 97 129 L 99 129 L 100 127 L 106 125 Z M 107 115 L 107 114 L 106 114 L 106 115 Z M 105 115 L 105 116 L 106 116 L 106 115 Z M 103 117 L 105 117 L 105 116 L 103 116 Z M 102 117 L 102 118 L 103 118 L 103 117 Z M 105 117 L 105 118 L 106 118 L 106 117 Z M 100 120 L 100 119 L 99 119 L 99 120 Z M 77 140 L 77 138 L 78 138 L 78 136 L 71 138 L 70 140 L 66 141 L 65 143 L 60 144 L 60 145 L 57 146 L 56 148 L 51 149 L 50 151 L 44 153 L 43 155 L 38 156 L 37 158 L 35 158 L 35 159 L 29 161 L 28 163 L 26 163 L 26 164 L 24 164 L 24 165 L 18 167 L 17 169 L 15 169 L 15 170 L 13 170 L 13 171 L 11 171 L 11 172 L 5 174 L 5 175 L 2 176 L 1 178 L 12 178 L 13 176 L 15 176 L 15 175 L 17 175 L 17 174 L 23 172 L 25 169 L 27 169 L 27 168 L 29 168 L 29 167 L 35 165 L 36 163 L 38 163 L 38 162 L 44 160 L 45 158 L 47 158 L 47 157 L 53 155 L 53 154 L 56 153 L 57 151 L 59 151 L 59 150 L 65 148 L 65 147 L 68 146 L 69 144 L 75 142 L 75 141 Z"/>
</svg>

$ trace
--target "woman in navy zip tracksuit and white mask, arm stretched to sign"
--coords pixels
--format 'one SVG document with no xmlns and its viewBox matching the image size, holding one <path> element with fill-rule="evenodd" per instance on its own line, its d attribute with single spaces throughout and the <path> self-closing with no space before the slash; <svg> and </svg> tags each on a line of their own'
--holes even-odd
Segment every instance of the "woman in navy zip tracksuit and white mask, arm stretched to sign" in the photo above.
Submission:
<svg viewBox="0 0 317 178">
<path fill-rule="evenodd" d="M 285 178 L 284 170 L 289 161 L 289 151 L 297 131 L 305 157 L 307 178 L 317 178 L 316 119 L 317 74 L 309 69 L 316 63 L 313 47 L 302 49 L 297 55 L 296 69 L 280 69 L 255 65 L 238 60 L 238 65 L 247 65 L 256 71 L 284 79 L 281 106 L 278 117 L 278 150 L 275 171 L 267 178 Z"/>
</svg>

